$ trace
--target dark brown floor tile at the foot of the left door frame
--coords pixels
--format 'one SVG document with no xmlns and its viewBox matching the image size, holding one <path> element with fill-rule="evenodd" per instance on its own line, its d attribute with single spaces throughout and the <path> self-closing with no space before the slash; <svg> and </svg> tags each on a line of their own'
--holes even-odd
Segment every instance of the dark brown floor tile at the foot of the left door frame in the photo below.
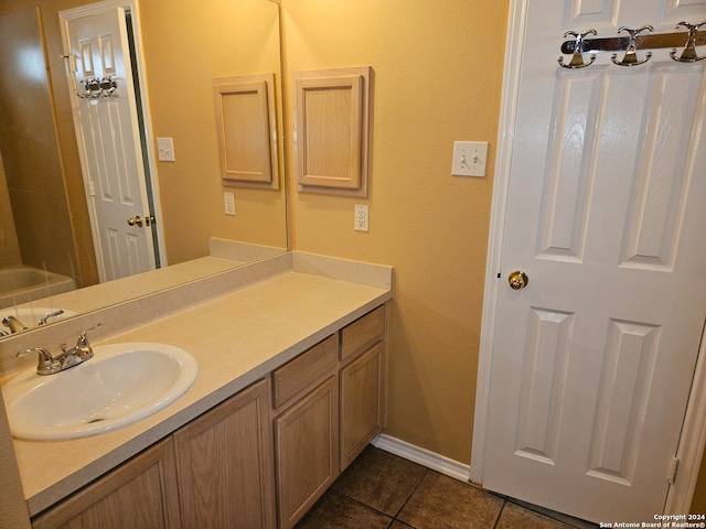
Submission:
<svg viewBox="0 0 706 529">
<path fill-rule="evenodd" d="M 428 472 L 397 518 L 417 529 L 489 529 L 503 503 L 471 485 Z"/>
</svg>

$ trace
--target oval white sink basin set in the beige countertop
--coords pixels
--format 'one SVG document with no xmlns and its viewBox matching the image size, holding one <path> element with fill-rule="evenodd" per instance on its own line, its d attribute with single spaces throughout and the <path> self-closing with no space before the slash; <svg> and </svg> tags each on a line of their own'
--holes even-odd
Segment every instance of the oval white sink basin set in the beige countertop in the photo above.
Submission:
<svg viewBox="0 0 706 529">
<path fill-rule="evenodd" d="M 57 441 L 116 430 L 181 397 L 199 375 L 193 356 L 151 343 L 99 345 L 71 369 L 39 376 L 35 368 L 3 388 L 17 439 Z"/>
</svg>

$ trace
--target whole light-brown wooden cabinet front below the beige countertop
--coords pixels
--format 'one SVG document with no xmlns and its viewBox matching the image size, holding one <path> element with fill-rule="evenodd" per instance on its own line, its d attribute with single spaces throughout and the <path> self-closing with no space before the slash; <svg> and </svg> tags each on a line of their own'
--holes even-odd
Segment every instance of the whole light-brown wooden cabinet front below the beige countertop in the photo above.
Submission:
<svg viewBox="0 0 706 529">
<path fill-rule="evenodd" d="M 383 305 L 32 525 L 289 529 L 381 432 L 385 350 Z"/>
</svg>

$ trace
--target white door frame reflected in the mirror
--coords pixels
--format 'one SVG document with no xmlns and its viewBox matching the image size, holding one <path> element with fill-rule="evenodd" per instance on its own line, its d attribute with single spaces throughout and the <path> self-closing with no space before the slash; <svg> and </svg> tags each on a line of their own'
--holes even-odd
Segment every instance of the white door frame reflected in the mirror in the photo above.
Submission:
<svg viewBox="0 0 706 529">
<path fill-rule="evenodd" d="M 157 173 L 157 156 L 154 153 L 154 140 L 153 140 L 153 133 L 152 133 L 151 112 L 149 108 L 149 91 L 147 86 L 147 75 L 146 75 L 146 68 L 145 68 L 145 54 L 142 52 L 142 34 L 140 30 L 140 13 L 139 13 L 138 0 L 103 0 L 96 3 L 90 3 L 87 6 L 81 6 L 77 8 L 60 11 L 58 19 L 60 19 L 61 33 L 62 33 L 62 43 L 65 51 L 71 50 L 71 45 L 68 43 L 68 36 L 67 36 L 68 35 L 67 28 L 68 28 L 68 22 L 71 22 L 72 20 L 81 19 L 83 17 L 89 17 L 93 14 L 100 14 L 107 10 L 113 10 L 116 8 L 124 8 L 128 10 L 130 12 L 130 17 L 132 18 L 132 40 L 135 44 L 135 64 L 132 66 L 133 68 L 137 69 L 139 86 L 140 86 L 139 93 L 136 93 L 135 97 L 136 99 L 139 100 L 139 104 L 141 106 L 142 121 L 145 123 L 143 125 L 145 130 L 142 130 L 142 132 L 145 133 L 142 163 L 145 163 L 143 161 L 146 159 L 147 164 L 149 166 L 149 174 L 146 175 L 146 180 L 149 180 L 149 182 L 146 182 L 146 185 L 149 187 L 149 190 L 151 190 L 148 193 L 151 194 L 151 202 L 154 208 L 153 215 L 157 218 L 157 222 L 152 224 L 152 226 L 154 227 L 153 234 L 154 234 L 154 237 L 157 238 L 157 245 L 154 248 L 156 260 L 159 263 L 160 268 L 162 268 L 168 264 L 167 249 L 164 247 L 164 230 L 162 228 L 163 215 L 162 215 L 162 206 L 161 206 L 160 192 L 159 192 L 159 179 Z M 71 57 L 65 55 L 65 58 L 67 58 L 66 65 L 65 65 L 66 75 L 69 77 L 71 76 L 69 75 Z M 71 96 L 73 96 L 73 94 L 71 93 L 71 84 L 69 84 L 69 97 Z M 74 119 L 74 127 L 76 127 L 75 123 L 77 118 L 77 114 L 76 114 L 77 105 L 74 99 L 72 99 L 71 106 L 72 106 L 72 112 L 73 112 L 73 119 Z M 140 144 L 142 144 L 141 141 L 140 141 Z M 82 173 L 83 173 L 84 153 L 83 153 L 83 150 L 79 150 L 79 151 L 82 156 Z M 83 174 L 83 182 L 85 187 L 86 186 L 85 174 Z M 84 190 L 84 192 L 85 192 L 85 196 L 87 197 L 88 196 L 87 190 Z M 92 217 L 92 235 L 94 238 L 94 245 L 96 245 L 96 241 L 95 241 L 96 234 L 94 228 L 95 227 L 93 226 L 93 217 Z"/>
</svg>

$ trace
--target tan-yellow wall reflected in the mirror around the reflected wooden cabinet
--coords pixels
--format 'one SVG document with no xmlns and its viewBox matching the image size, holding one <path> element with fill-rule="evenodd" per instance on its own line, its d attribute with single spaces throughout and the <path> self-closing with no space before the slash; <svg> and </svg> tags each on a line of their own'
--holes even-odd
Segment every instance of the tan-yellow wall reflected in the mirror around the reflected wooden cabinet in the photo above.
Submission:
<svg viewBox="0 0 706 529">
<path fill-rule="evenodd" d="M 286 248 L 284 191 L 221 184 L 212 88 L 216 77 L 264 73 L 279 83 L 277 6 L 150 0 L 140 14 L 152 131 L 173 138 L 176 155 L 158 162 L 169 262 L 207 255 L 208 237 Z M 234 217 L 223 212 L 224 191 L 235 195 Z"/>
</svg>

